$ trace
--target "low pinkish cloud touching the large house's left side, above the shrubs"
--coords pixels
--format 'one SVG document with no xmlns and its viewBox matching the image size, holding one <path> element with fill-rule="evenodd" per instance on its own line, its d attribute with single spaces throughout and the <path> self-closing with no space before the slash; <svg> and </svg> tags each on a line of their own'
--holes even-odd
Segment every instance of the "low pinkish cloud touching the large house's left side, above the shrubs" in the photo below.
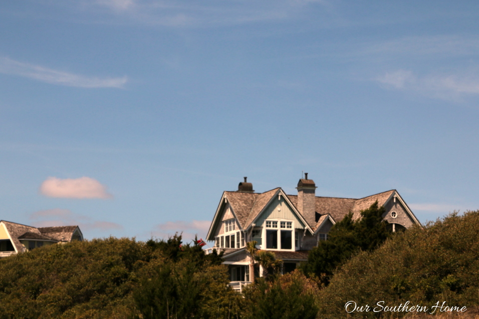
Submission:
<svg viewBox="0 0 479 319">
<path fill-rule="evenodd" d="M 168 238 L 175 235 L 175 233 L 182 233 L 183 242 L 188 243 L 190 240 L 195 239 L 195 235 L 206 240 L 205 237 L 210 229 L 210 225 L 211 221 L 209 220 L 169 221 L 153 227 L 149 235 L 158 238 Z"/>
</svg>

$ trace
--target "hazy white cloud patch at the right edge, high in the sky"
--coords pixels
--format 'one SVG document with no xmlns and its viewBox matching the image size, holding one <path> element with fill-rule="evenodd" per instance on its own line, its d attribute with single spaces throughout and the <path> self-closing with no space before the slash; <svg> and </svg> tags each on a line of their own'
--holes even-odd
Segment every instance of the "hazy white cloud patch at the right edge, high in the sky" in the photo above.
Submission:
<svg viewBox="0 0 479 319">
<path fill-rule="evenodd" d="M 448 100 L 479 94 L 479 76 L 472 74 L 417 76 L 410 70 L 397 70 L 378 76 L 375 80 L 386 88 L 416 91 Z"/>
</svg>

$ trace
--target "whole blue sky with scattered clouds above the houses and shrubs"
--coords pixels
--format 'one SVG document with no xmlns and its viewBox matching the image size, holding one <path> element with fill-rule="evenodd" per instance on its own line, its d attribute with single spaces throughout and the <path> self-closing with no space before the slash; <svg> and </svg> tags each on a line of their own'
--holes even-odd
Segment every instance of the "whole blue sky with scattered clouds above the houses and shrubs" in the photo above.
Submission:
<svg viewBox="0 0 479 319">
<path fill-rule="evenodd" d="M 206 235 L 243 176 L 476 210 L 479 3 L 0 3 L 0 218 Z"/>
</svg>

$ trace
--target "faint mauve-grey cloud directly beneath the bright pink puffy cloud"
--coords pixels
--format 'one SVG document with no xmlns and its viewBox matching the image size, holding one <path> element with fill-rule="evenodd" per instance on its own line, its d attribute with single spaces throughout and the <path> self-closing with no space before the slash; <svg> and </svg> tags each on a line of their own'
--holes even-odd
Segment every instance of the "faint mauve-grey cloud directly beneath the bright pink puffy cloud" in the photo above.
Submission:
<svg viewBox="0 0 479 319">
<path fill-rule="evenodd" d="M 114 222 L 94 220 L 68 209 L 54 208 L 39 210 L 30 214 L 29 219 L 35 227 L 78 225 L 85 232 L 89 230 L 123 230 L 123 226 Z"/>
</svg>

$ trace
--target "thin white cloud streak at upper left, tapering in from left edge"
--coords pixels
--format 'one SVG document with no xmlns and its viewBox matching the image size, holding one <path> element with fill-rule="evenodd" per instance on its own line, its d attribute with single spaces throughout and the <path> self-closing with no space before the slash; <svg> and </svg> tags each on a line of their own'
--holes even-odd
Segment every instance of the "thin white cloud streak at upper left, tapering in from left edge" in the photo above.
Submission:
<svg viewBox="0 0 479 319">
<path fill-rule="evenodd" d="M 88 77 L 58 70 L 53 70 L 41 65 L 34 65 L 0 57 L 0 73 L 23 76 L 41 82 L 80 87 L 80 88 L 122 88 L 128 78 L 98 78 Z"/>
</svg>

